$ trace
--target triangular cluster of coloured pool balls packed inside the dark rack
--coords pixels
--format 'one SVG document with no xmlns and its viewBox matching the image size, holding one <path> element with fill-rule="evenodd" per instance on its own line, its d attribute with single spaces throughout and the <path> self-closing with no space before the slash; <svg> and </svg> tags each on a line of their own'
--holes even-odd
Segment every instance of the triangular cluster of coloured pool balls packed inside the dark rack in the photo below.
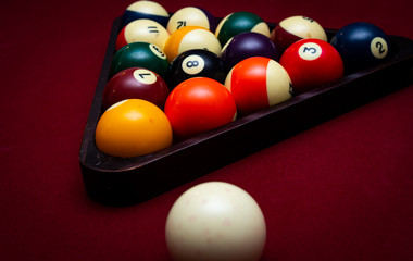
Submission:
<svg viewBox="0 0 413 261">
<path fill-rule="evenodd" d="M 381 62 L 389 49 L 368 23 L 328 41 L 305 16 L 270 28 L 251 12 L 218 21 L 137 1 L 122 16 L 96 145 L 114 157 L 152 153 Z"/>
</svg>

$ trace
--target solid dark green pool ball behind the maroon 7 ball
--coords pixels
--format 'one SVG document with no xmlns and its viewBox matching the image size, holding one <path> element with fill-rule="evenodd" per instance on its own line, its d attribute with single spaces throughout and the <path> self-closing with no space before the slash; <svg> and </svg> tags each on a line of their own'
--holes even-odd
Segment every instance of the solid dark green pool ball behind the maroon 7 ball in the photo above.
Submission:
<svg viewBox="0 0 413 261">
<path fill-rule="evenodd" d="M 165 78 L 170 62 L 155 45 L 133 42 L 118 50 L 112 58 L 110 77 L 128 67 L 145 67 Z"/>
</svg>

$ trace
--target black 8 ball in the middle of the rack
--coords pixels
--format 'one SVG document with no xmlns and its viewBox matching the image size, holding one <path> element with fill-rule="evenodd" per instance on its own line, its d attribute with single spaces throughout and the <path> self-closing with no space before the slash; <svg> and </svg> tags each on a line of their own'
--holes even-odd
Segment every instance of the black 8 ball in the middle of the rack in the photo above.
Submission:
<svg viewBox="0 0 413 261">
<path fill-rule="evenodd" d="M 226 76 L 224 63 L 215 53 L 198 49 L 185 51 L 175 58 L 168 75 L 170 88 L 193 77 L 209 77 L 224 84 Z"/>
</svg>

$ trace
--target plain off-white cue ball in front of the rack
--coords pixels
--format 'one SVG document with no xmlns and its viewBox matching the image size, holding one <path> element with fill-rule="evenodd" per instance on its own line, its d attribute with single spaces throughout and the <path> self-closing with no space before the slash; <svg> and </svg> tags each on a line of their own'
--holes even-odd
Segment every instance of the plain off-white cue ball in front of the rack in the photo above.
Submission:
<svg viewBox="0 0 413 261">
<path fill-rule="evenodd" d="M 266 224 L 247 191 L 229 183 L 208 182 L 175 201 L 165 237 L 175 261 L 258 261 L 266 241 Z"/>
</svg>

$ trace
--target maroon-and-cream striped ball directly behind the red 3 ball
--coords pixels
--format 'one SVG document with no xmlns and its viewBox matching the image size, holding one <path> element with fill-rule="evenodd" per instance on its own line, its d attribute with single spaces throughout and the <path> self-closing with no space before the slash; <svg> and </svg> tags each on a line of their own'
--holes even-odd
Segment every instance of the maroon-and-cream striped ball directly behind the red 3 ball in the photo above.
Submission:
<svg viewBox="0 0 413 261">
<path fill-rule="evenodd" d="M 271 33 L 270 38 L 283 53 L 293 42 L 315 38 L 327 41 L 324 28 L 314 20 L 306 16 L 291 16 L 283 20 Z"/>
</svg>

